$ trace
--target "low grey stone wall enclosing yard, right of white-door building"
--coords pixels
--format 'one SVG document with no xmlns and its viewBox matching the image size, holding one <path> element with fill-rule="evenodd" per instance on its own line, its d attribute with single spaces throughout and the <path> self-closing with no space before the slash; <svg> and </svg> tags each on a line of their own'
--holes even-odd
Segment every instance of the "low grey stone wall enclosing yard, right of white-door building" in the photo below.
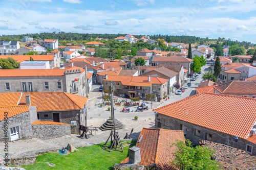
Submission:
<svg viewBox="0 0 256 170">
<path fill-rule="evenodd" d="M 50 139 L 71 135 L 70 125 L 49 125 L 49 124 L 33 124 L 33 136 L 40 139 Z"/>
</svg>

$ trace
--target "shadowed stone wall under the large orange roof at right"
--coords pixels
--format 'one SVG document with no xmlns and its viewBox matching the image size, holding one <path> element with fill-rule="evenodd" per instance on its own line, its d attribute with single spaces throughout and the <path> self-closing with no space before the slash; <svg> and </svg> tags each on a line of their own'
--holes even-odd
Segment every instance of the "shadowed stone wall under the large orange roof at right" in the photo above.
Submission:
<svg viewBox="0 0 256 170">
<path fill-rule="evenodd" d="M 189 115 L 185 114 L 185 120 L 186 120 L 186 116 L 189 116 Z M 155 121 L 156 121 L 156 125 L 155 125 L 156 128 L 182 130 L 182 126 L 183 126 L 182 120 L 157 113 Z M 201 133 L 199 136 L 195 135 L 196 130 L 200 130 Z M 191 142 L 198 144 L 198 141 L 200 139 L 205 140 L 206 133 L 212 135 L 212 140 L 211 140 L 212 142 L 226 144 L 226 145 L 229 145 L 230 147 L 238 148 L 244 151 L 246 149 L 246 144 L 252 145 L 253 147 L 252 154 L 256 154 L 256 144 L 251 143 L 246 139 L 239 138 L 238 142 L 236 142 L 234 140 L 234 136 L 232 135 L 184 122 L 184 134 L 186 134 L 185 138 L 189 139 Z"/>
</svg>

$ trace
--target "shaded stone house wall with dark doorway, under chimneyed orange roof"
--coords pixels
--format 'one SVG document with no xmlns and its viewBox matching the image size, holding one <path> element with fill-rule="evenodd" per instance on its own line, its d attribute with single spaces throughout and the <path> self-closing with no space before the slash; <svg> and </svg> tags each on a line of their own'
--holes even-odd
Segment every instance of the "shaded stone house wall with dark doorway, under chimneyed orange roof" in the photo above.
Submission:
<svg viewBox="0 0 256 170">
<path fill-rule="evenodd" d="M 71 121 L 76 121 L 76 126 L 71 126 L 71 134 L 80 134 L 80 131 L 78 130 L 80 122 L 84 122 L 84 126 L 85 126 L 86 115 L 85 115 L 85 113 L 83 113 L 83 114 L 81 113 L 81 115 L 80 115 L 80 110 L 37 112 L 37 113 L 38 113 L 40 121 L 52 121 L 53 122 L 53 113 L 59 113 L 59 122 L 60 123 L 71 124 Z M 45 115 L 47 115 L 47 117 Z"/>
</svg>

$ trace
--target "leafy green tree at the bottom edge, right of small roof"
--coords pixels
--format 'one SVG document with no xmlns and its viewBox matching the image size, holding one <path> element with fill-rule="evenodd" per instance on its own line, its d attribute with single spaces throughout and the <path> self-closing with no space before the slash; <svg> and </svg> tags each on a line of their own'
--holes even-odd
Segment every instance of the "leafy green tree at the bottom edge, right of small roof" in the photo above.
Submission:
<svg viewBox="0 0 256 170">
<path fill-rule="evenodd" d="M 220 169 L 219 163 L 212 160 L 214 150 L 199 145 L 194 148 L 188 139 L 186 143 L 178 139 L 172 143 L 171 147 L 175 147 L 174 158 L 170 158 L 173 166 L 183 170 Z"/>
</svg>

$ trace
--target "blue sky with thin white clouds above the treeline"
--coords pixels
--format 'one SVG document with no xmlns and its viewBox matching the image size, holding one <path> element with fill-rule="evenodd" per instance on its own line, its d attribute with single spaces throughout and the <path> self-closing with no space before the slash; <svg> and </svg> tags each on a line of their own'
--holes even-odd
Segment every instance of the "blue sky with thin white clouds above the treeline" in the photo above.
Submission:
<svg viewBox="0 0 256 170">
<path fill-rule="evenodd" d="M 255 0 L 0 0 L 0 35 L 189 35 L 256 43 Z"/>
</svg>

